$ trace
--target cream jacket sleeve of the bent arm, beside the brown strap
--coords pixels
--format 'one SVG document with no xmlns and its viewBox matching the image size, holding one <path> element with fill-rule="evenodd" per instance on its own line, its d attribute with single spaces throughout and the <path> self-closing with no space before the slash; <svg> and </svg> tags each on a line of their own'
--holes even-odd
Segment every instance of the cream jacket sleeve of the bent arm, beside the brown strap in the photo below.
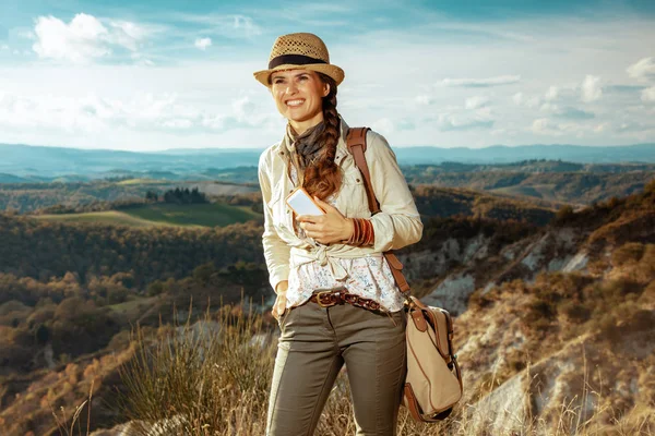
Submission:
<svg viewBox="0 0 655 436">
<path fill-rule="evenodd" d="M 382 135 L 367 134 L 366 160 L 381 210 L 371 217 L 373 250 L 398 250 L 420 241 L 424 228 L 420 215 L 395 154 Z"/>
</svg>

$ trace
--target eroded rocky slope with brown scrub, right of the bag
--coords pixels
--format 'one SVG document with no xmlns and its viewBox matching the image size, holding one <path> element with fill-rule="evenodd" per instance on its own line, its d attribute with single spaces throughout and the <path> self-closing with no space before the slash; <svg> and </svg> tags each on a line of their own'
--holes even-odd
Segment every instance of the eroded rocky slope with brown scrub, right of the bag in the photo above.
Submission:
<svg viewBox="0 0 655 436">
<path fill-rule="evenodd" d="M 424 302 L 461 314 L 468 431 L 654 429 L 653 186 L 490 241 L 452 237 L 403 258 L 415 278 L 438 275 Z"/>
</svg>

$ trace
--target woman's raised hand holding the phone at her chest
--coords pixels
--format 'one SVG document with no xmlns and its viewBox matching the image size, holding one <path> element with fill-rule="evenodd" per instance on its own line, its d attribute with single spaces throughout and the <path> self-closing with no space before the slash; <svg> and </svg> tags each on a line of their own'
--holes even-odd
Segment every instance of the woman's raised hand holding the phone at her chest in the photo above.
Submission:
<svg viewBox="0 0 655 436">
<path fill-rule="evenodd" d="M 321 244 L 349 240 L 355 230 L 353 220 L 344 217 L 336 207 L 319 199 L 319 197 L 314 196 L 314 201 L 325 210 L 325 215 L 298 216 L 296 219 L 300 223 L 300 228 L 305 230 L 305 234 Z"/>
</svg>

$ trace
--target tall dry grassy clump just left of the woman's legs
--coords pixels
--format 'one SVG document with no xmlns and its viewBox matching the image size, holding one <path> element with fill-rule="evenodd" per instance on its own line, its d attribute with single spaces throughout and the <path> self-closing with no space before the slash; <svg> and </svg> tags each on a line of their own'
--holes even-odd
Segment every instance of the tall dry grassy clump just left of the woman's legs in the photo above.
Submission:
<svg viewBox="0 0 655 436">
<path fill-rule="evenodd" d="M 262 330 L 261 315 L 230 306 L 156 338 L 139 330 L 136 356 L 120 371 L 121 409 L 139 420 L 132 434 L 151 435 L 154 423 L 184 435 L 227 434 L 234 423 L 242 434 L 263 434 L 253 417 L 266 413 L 275 343 L 254 340 Z"/>
</svg>

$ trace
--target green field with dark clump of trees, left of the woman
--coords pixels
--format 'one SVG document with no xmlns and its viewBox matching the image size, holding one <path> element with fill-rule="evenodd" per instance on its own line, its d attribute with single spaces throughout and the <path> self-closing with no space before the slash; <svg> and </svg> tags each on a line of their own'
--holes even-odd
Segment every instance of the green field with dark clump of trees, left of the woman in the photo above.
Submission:
<svg viewBox="0 0 655 436">
<path fill-rule="evenodd" d="M 258 214 L 248 207 L 230 206 L 221 203 L 196 205 L 159 203 L 124 210 L 35 216 L 37 219 L 58 222 L 94 222 L 131 227 L 224 227 L 236 222 L 258 219 L 259 217 Z"/>
</svg>

